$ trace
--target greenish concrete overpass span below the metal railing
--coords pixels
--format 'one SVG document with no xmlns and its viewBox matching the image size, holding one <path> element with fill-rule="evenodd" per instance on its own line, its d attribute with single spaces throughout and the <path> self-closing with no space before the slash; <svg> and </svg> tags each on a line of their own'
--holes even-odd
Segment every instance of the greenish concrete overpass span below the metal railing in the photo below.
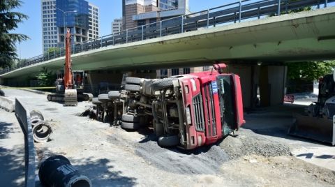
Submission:
<svg viewBox="0 0 335 187">
<path fill-rule="evenodd" d="M 73 55 L 73 70 L 203 66 L 214 60 L 281 63 L 335 59 L 335 8 L 267 17 Z M 64 57 L 27 66 L 2 78 L 59 70 Z"/>
</svg>

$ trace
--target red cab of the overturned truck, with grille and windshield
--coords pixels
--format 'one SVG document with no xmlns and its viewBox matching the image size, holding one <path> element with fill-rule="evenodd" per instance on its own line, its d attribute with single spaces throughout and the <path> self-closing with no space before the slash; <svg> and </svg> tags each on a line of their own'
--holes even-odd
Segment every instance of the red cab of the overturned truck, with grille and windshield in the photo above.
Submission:
<svg viewBox="0 0 335 187">
<path fill-rule="evenodd" d="M 217 142 L 245 123 L 239 76 L 222 73 L 224 63 L 214 68 L 216 70 L 175 77 L 173 91 L 161 92 L 163 113 L 154 117 L 167 130 L 158 144 L 170 145 L 168 138 L 174 137 L 182 149 L 195 149 Z M 169 114 L 174 111 L 169 108 L 177 108 L 178 116 Z M 177 131 L 171 130 L 170 124 L 177 124 Z"/>
</svg>

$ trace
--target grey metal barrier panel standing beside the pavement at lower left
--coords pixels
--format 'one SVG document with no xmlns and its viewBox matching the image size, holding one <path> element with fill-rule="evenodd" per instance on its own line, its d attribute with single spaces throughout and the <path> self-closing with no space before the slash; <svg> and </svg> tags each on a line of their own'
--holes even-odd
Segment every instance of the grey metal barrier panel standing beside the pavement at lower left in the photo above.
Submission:
<svg viewBox="0 0 335 187">
<path fill-rule="evenodd" d="M 15 116 L 24 133 L 25 186 L 35 186 L 35 148 L 31 130 L 30 114 L 20 100 L 15 99 Z"/>
</svg>

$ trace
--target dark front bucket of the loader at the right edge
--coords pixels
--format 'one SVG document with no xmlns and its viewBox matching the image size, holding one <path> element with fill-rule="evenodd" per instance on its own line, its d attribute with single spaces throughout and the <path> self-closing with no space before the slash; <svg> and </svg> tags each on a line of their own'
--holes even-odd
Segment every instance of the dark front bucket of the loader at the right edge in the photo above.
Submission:
<svg viewBox="0 0 335 187">
<path fill-rule="evenodd" d="M 335 145 L 335 116 L 332 119 L 308 117 L 295 114 L 295 123 L 288 130 L 289 135 Z"/>
</svg>

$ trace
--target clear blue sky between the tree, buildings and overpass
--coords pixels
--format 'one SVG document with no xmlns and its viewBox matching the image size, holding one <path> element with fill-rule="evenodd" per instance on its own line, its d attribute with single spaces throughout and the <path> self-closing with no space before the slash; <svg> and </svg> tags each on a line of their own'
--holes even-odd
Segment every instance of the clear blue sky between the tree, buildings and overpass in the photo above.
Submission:
<svg viewBox="0 0 335 187">
<path fill-rule="evenodd" d="M 189 0 L 192 12 L 207 10 L 216 6 L 222 6 L 237 0 Z M 33 3 L 34 2 L 34 3 Z M 100 33 L 99 36 L 110 34 L 111 23 L 115 18 L 122 17 L 121 0 L 89 0 L 100 8 Z M 22 0 L 22 6 L 18 8 L 20 13 L 29 16 L 28 20 L 19 24 L 13 33 L 24 33 L 29 40 L 17 43 L 17 55 L 20 59 L 29 59 L 42 54 L 42 24 L 40 12 L 40 0 Z"/>
</svg>

